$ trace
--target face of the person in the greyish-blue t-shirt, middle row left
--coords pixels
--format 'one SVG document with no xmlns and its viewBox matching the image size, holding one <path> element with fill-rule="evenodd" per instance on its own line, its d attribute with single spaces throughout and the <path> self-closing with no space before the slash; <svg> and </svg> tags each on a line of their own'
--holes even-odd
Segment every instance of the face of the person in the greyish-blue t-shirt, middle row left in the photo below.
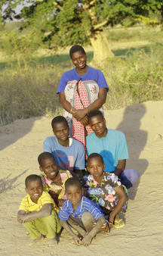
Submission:
<svg viewBox="0 0 163 256">
<path fill-rule="evenodd" d="M 54 135 L 61 144 L 69 138 L 69 126 L 65 122 L 55 123 L 53 126 Z"/>
</svg>

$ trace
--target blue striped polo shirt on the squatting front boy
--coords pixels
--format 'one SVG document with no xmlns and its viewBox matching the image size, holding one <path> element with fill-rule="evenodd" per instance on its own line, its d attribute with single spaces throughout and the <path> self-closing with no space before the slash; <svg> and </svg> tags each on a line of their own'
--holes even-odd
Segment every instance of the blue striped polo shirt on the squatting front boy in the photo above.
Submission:
<svg viewBox="0 0 163 256">
<path fill-rule="evenodd" d="M 69 200 L 66 200 L 62 210 L 59 211 L 58 216 L 60 220 L 69 220 L 70 215 L 81 220 L 82 214 L 84 214 L 85 211 L 89 211 L 94 216 L 95 220 L 98 220 L 101 216 L 104 217 L 102 211 L 100 211 L 100 209 L 85 196 L 82 196 L 80 204 L 78 204 L 78 208 L 75 211 L 72 207 L 72 203 Z"/>
</svg>

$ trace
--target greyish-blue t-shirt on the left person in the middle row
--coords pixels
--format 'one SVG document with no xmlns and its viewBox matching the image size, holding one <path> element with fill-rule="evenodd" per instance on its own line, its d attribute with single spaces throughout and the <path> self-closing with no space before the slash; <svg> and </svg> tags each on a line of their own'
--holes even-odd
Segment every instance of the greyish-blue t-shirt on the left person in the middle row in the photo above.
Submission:
<svg viewBox="0 0 163 256">
<path fill-rule="evenodd" d="M 56 136 L 45 139 L 43 150 L 54 155 L 60 170 L 85 170 L 85 148 L 81 142 L 72 139 L 69 147 L 60 145 Z"/>
</svg>

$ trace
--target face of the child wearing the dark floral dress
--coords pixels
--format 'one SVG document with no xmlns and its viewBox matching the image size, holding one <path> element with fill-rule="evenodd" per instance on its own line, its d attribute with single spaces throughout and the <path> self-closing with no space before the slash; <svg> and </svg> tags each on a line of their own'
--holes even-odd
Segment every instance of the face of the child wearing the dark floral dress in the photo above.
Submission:
<svg viewBox="0 0 163 256">
<path fill-rule="evenodd" d="M 103 169 L 105 168 L 105 164 L 101 161 L 100 158 L 91 158 L 88 161 L 88 172 L 91 173 L 94 177 L 101 177 L 103 176 Z"/>
</svg>

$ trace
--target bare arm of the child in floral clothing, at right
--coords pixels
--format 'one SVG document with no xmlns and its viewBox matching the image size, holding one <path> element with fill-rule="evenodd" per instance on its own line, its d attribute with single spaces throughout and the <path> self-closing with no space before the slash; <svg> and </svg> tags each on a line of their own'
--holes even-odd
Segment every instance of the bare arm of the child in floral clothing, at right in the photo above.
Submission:
<svg viewBox="0 0 163 256">
<path fill-rule="evenodd" d="M 125 202 L 128 200 L 127 195 L 125 194 L 124 189 L 122 186 L 118 186 L 114 188 L 115 192 L 118 195 L 118 203 L 116 204 L 115 208 L 112 210 L 111 214 L 109 215 L 109 227 L 111 228 L 114 222 L 115 215 L 121 210 Z"/>
</svg>

